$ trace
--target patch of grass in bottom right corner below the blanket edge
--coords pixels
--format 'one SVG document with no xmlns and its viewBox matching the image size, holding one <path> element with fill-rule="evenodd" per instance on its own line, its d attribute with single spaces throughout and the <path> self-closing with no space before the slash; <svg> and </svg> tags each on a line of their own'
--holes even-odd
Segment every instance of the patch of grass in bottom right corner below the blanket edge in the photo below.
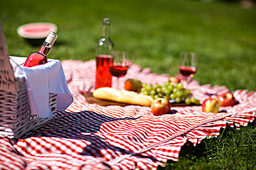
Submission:
<svg viewBox="0 0 256 170">
<path fill-rule="evenodd" d="M 227 125 L 219 136 L 203 139 L 196 147 L 182 146 L 179 161 L 158 170 L 256 170 L 255 160 L 256 120 L 240 129 Z"/>
</svg>

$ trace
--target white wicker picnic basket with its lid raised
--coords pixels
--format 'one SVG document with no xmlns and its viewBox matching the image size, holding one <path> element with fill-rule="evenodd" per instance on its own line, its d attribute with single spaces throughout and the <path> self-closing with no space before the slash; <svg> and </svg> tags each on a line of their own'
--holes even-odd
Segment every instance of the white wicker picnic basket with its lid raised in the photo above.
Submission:
<svg viewBox="0 0 256 170">
<path fill-rule="evenodd" d="M 56 94 L 50 93 L 49 104 L 55 115 Z M 0 136 L 25 137 L 54 118 L 31 115 L 26 80 L 14 75 L 0 23 Z"/>
</svg>

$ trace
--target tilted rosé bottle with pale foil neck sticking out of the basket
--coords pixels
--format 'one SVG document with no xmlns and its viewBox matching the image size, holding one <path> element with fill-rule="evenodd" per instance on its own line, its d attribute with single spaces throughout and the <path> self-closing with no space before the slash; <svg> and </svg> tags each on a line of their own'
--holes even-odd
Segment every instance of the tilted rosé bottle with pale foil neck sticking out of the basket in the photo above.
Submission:
<svg viewBox="0 0 256 170">
<path fill-rule="evenodd" d="M 28 56 L 24 63 L 24 67 L 33 67 L 47 63 L 47 55 L 50 52 L 53 44 L 55 43 L 58 34 L 50 32 L 45 41 L 43 42 L 38 52 L 32 53 Z"/>
</svg>

